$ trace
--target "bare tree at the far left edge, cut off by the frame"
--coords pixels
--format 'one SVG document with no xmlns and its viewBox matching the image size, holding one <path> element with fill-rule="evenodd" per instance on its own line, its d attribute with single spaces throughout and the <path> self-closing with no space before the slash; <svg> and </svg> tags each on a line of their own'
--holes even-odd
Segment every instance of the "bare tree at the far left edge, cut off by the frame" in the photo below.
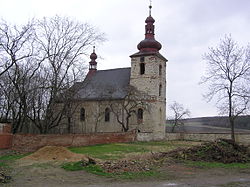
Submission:
<svg viewBox="0 0 250 187">
<path fill-rule="evenodd" d="M 21 131 L 28 121 L 28 94 L 32 77 L 39 68 L 34 43 L 33 21 L 24 26 L 1 22 L 0 85 L 4 103 L 1 113 L 4 113 L 4 118 L 11 119 L 13 133 Z"/>
</svg>

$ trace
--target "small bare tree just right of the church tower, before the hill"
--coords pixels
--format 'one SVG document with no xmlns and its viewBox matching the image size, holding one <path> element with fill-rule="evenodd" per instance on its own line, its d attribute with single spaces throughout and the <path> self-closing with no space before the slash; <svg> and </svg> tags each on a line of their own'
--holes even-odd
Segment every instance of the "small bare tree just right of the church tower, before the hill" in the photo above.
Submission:
<svg viewBox="0 0 250 187">
<path fill-rule="evenodd" d="M 176 101 L 169 106 L 169 109 L 174 114 L 173 117 L 170 118 L 170 120 L 173 121 L 171 132 L 174 132 L 177 126 L 183 125 L 182 119 L 190 116 L 190 111 L 185 109 L 182 104 L 177 103 Z"/>
</svg>

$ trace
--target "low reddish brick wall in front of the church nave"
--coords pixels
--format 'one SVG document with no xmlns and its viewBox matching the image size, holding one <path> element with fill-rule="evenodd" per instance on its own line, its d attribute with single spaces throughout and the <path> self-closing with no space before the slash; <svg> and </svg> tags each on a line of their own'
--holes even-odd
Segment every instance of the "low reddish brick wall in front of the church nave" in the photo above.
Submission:
<svg viewBox="0 0 250 187">
<path fill-rule="evenodd" d="M 44 146 L 77 147 L 95 144 L 120 143 L 135 141 L 135 132 L 95 133 L 95 134 L 15 134 L 12 149 L 32 152 Z"/>
</svg>

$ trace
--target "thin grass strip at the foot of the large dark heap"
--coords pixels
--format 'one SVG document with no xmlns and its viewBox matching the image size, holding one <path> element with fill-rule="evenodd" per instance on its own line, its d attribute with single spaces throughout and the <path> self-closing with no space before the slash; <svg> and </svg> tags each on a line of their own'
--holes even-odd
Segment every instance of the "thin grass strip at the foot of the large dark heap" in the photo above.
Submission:
<svg viewBox="0 0 250 187">
<path fill-rule="evenodd" d="M 185 161 L 185 164 L 191 167 L 199 167 L 199 168 L 225 168 L 225 169 L 249 169 L 250 168 L 250 163 L 223 164 L 219 162 Z"/>
</svg>

